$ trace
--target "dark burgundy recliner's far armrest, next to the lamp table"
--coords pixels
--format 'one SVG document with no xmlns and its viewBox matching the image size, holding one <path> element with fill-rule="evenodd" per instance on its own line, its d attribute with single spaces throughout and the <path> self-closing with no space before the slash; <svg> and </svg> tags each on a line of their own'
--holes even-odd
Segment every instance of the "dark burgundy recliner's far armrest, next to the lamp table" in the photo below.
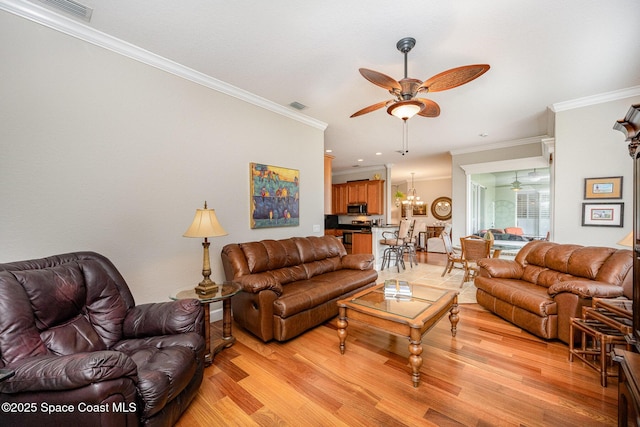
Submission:
<svg viewBox="0 0 640 427">
<path fill-rule="evenodd" d="M 124 319 L 125 338 L 174 335 L 202 330 L 200 302 L 194 298 L 141 304 L 131 308 Z"/>
</svg>

